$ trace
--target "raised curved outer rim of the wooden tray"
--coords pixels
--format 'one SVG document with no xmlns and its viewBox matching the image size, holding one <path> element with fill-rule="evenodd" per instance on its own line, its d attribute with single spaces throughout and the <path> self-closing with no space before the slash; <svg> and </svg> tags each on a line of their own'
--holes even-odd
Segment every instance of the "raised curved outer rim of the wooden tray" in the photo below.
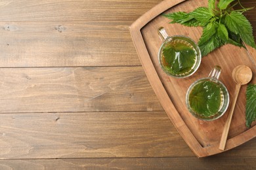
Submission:
<svg viewBox="0 0 256 170">
<path fill-rule="evenodd" d="M 236 146 L 240 146 L 241 144 L 253 139 L 254 137 L 256 137 L 256 126 L 253 126 L 250 129 L 247 129 L 246 131 L 244 131 L 244 133 L 240 133 L 239 135 L 236 135 L 235 137 L 228 139 L 228 141 L 226 142 L 226 148 L 224 151 L 219 149 L 219 143 L 215 143 L 215 144 L 212 144 L 211 146 L 203 147 L 198 142 L 196 137 L 194 137 L 190 129 L 186 126 L 184 120 L 182 120 L 179 112 L 175 108 L 175 105 L 173 105 L 173 102 L 169 98 L 169 95 L 167 94 L 165 88 L 163 87 L 163 84 L 161 83 L 160 77 L 158 76 L 158 73 L 154 67 L 154 64 L 152 63 L 152 60 L 150 59 L 150 54 L 148 54 L 148 50 L 146 48 L 146 44 L 144 43 L 140 29 L 142 29 L 142 27 L 144 27 L 146 24 L 148 24 L 148 22 L 150 22 L 151 20 L 159 16 L 161 13 L 165 12 L 165 10 L 171 9 L 171 7 L 174 7 L 175 5 L 179 5 L 179 3 L 182 3 L 184 1 L 189 1 L 189 0 L 162 1 L 152 9 L 148 10 L 148 12 L 140 16 L 140 18 L 137 19 L 129 27 L 129 30 L 131 33 L 131 37 L 133 39 L 133 44 L 135 45 L 135 49 L 137 50 L 137 54 L 139 55 L 140 62 L 142 63 L 142 67 L 146 73 L 146 76 L 148 77 L 148 80 L 154 92 L 158 96 L 160 103 L 161 104 L 163 102 L 169 103 L 168 107 L 162 104 L 163 109 L 169 116 L 173 125 L 179 131 L 180 135 L 182 136 L 186 144 L 188 144 L 188 146 L 191 148 L 194 154 L 198 156 L 198 158 L 202 158 L 205 156 L 211 156 L 213 154 L 219 154 L 226 150 L 230 150 L 232 148 L 235 148 Z M 135 41 L 135 37 L 137 37 L 136 41 Z M 159 93 L 161 93 L 161 97 L 159 96 Z M 241 138 L 244 139 L 242 142 L 240 140 Z"/>
</svg>

